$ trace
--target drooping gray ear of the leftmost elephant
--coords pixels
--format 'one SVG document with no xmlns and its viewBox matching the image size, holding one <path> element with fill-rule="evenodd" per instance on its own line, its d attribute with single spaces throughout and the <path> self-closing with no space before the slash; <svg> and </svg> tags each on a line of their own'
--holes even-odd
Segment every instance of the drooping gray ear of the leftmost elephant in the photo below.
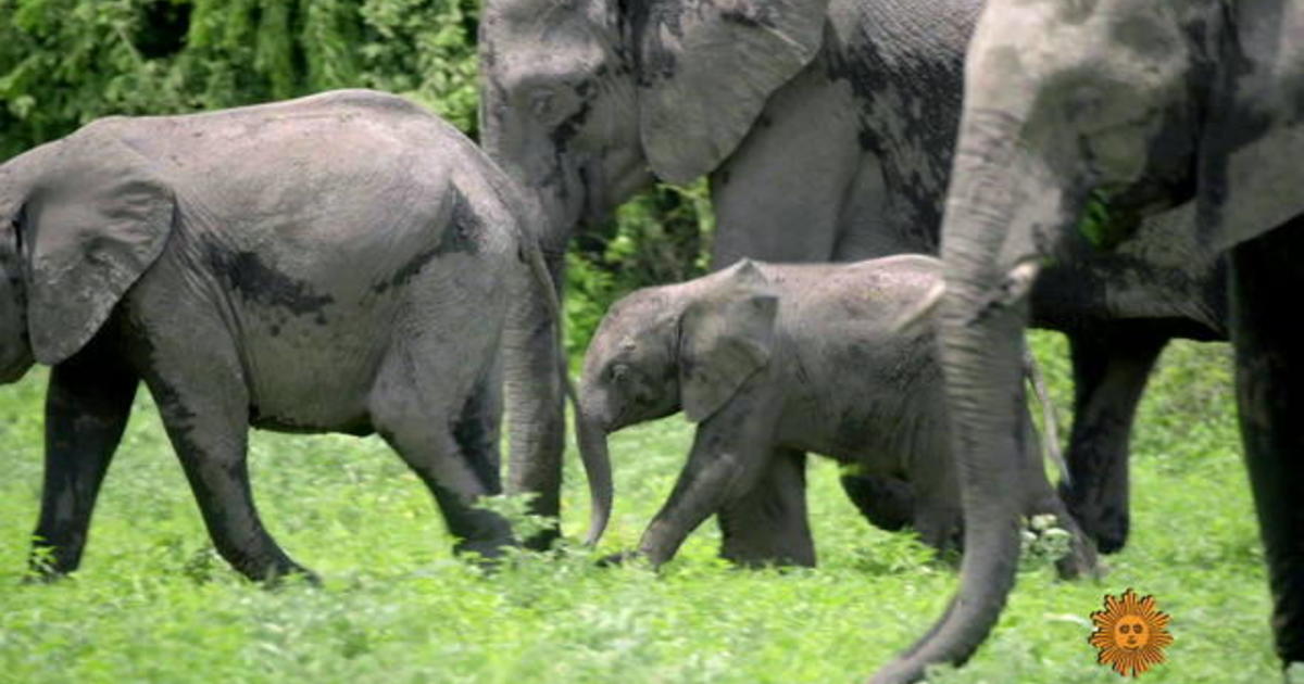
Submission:
<svg viewBox="0 0 1304 684">
<path fill-rule="evenodd" d="M 27 206 L 27 326 L 37 361 L 59 363 L 104 324 L 163 251 L 172 192 L 147 159 L 94 129 L 56 143 Z"/>
</svg>

